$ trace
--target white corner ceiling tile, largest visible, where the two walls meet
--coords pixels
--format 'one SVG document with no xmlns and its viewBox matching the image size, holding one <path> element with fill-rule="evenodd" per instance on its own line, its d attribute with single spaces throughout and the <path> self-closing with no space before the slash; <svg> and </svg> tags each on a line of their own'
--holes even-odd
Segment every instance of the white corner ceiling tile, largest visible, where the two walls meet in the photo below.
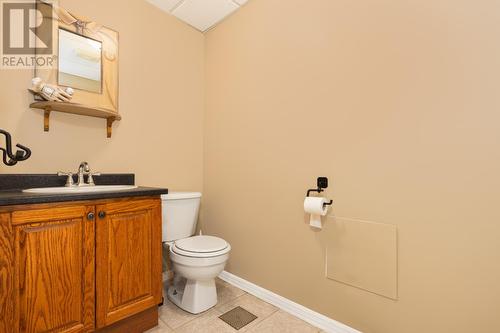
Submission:
<svg viewBox="0 0 500 333">
<path fill-rule="evenodd" d="M 232 0 L 185 0 L 172 14 L 195 28 L 206 31 L 238 8 Z"/>
</svg>

